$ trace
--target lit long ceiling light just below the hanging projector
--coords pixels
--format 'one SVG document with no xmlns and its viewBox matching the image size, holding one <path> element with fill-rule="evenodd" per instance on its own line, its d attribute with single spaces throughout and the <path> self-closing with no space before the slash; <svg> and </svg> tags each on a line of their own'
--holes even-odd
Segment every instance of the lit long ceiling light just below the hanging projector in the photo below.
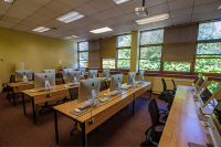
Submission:
<svg viewBox="0 0 221 147">
<path fill-rule="evenodd" d="M 166 19 L 169 19 L 168 13 L 144 18 L 140 20 L 136 20 L 136 22 L 137 22 L 137 24 L 146 24 L 146 23 L 156 22 L 156 21 L 166 20 Z"/>
</svg>

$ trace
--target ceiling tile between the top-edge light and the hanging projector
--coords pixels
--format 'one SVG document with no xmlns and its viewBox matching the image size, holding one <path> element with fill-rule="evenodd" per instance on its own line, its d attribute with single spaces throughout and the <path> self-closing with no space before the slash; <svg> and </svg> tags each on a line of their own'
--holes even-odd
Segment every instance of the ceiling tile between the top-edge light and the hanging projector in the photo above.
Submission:
<svg viewBox="0 0 221 147">
<path fill-rule="evenodd" d="M 148 0 L 149 1 L 149 0 Z M 155 1 L 158 1 L 158 0 L 155 0 Z M 128 2 L 125 2 L 123 4 L 119 4 L 118 6 L 125 13 L 130 13 L 130 12 L 134 12 L 135 8 L 137 7 L 141 7 L 141 3 L 139 1 L 128 1 Z"/>
</svg>

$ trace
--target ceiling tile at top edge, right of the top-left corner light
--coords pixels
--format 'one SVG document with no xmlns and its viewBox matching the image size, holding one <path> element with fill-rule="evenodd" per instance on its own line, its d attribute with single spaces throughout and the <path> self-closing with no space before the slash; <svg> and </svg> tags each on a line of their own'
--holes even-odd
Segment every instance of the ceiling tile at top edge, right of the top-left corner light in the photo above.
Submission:
<svg viewBox="0 0 221 147">
<path fill-rule="evenodd" d="M 42 8 L 42 6 L 34 3 L 30 0 L 15 0 L 14 6 L 31 10 L 31 11 L 38 11 Z"/>
</svg>

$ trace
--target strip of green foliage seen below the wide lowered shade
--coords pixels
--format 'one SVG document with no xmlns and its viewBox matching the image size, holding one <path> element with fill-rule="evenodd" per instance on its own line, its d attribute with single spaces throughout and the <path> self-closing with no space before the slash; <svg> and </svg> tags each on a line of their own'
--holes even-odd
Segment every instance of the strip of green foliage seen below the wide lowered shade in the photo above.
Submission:
<svg viewBox="0 0 221 147">
<path fill-rule="evenodd" d="M 190 65 L 186 62 L 164 62 L 164 71 L 190 72 Z"/>
</svg>

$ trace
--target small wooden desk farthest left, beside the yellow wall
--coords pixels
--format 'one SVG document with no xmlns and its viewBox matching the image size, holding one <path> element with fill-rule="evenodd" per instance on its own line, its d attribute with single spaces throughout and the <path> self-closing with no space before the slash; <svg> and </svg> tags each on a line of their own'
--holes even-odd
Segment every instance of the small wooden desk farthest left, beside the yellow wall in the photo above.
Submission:
<svg viewBox="0 0 221 147">
<path fill-rule="evenodd" d="M 34 82 L 30 81 L 27 84 L 24 84 L 24 83 L 8 83 L 7 87 L 12 87 L 13 104 L 15 106 L 15 101 L 14 101 L 15 94 L 22 93 L 22 91 L 25 91 L 25 90 L 34 88 Z M 10 102 L 9 88 L 8 88 L 8 95 L 7 95 L 7 97 L 9 98 L 9 102 Z"/>
</svg>

